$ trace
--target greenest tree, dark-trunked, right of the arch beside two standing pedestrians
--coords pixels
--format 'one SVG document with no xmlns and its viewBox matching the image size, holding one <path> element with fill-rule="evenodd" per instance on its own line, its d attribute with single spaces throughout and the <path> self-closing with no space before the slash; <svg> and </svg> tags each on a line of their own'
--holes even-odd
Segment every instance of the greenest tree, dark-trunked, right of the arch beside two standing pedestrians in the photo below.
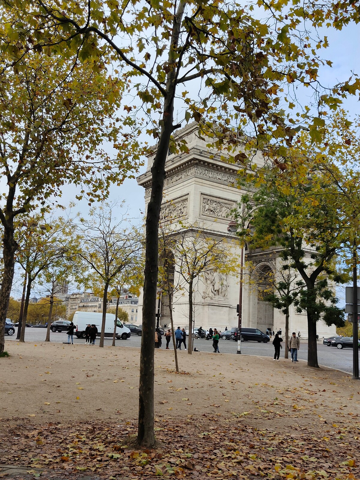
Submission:
<svg viewBox="0 0 360 480">
<path fill-rule="evenodd" d="M 328 324 L 343 324 L 343 313 L 335 307 L 337 299 L 329 283 L 346 281 L 336 268 L 336 253 L 343 242 L 342 219 L 326 193 L 315 207 L 304 201 L 306 187 L 297 185 L 293 194 L 286 195 L 270 179 L 271 174 L 266 184 L 242 197 L 238 216 L 242 222 L 247 216 L 249 227 L 240 229 L 238 235 L 252 248 L 280 246 L 286 268 L 299 272 L 303 286 L 296 301 L 298 309 L 307 312 L 308 365 L 318 367 L 316 322 L 323 317 Z M 333 318 L 326 314 L 329 309 L 336 313 Z"/>
</svg>

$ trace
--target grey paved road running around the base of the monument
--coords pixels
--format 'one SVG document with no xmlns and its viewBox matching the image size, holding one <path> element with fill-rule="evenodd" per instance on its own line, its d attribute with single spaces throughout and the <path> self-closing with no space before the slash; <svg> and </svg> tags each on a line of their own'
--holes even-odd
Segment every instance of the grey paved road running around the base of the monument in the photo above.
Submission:
<svg viewBox="0 0 360 480">
<path fill-rule="evenodd" d="M 25 330 L 25 341 L 29 342 L 42 342 L 46 337 L 45 328 L 26 328 Z M 16 332 L 13 336 L 5 335 L 6 340 L 16 341 Z M 50 332 L 51 342 L 67 342 L 66 333 L 52 333 Z M 74 337 L 74 344 L 84 344 L 85 340 L 78 339 Z M 105 345 L 111 345 L 112 339 L 105 338 Z M 96 339 L 96 344 L 99 344 L 99 340 Z M 116 345 L 120 347 L 137 347 L 140 348 L 141 337 L 132 335 L 128 340 L 116 340 Z M 163 339 L 162 348 L 165 348 L 166 342 Z M 194 340 L 194 346 L 202 352 L 212 352 L 212 341 L 197 339 Z M 172 342 L 170 343 L 172 348 Z M 182 346 L 183 347 L 183 346 Z M 222 340 L 219 341 L 219 350 L 221 353 L 236 353 L 237 344 L 233 340 Z M 318 362 L 320 365 L 326 367 L 335 368 L 342 370 L 344 372 L 352 373 L 352 349 L 343 348 L 338 350 L 334 347 L 326 347 L 322 343 L 318 343 Z M 93 347 L 90 347 L 93 348 Z M 242 342 L 241 344 L 241 353 L 245 355 L 258 355 L 264 357 L 273 357 L 274 356 L 274 347 L 271 342 L 257 343 L 257 342 Z M 284 357 L 284 349 L 281 350 L 281 357 Z M 300 344 L 300 350 L 298 352 L 298 358 L 301 360 L 307 360 L 308 355 L 308 345 L 305 342 Z M 290 361 L 290 360 L 289 360 Z"/>
</svg>

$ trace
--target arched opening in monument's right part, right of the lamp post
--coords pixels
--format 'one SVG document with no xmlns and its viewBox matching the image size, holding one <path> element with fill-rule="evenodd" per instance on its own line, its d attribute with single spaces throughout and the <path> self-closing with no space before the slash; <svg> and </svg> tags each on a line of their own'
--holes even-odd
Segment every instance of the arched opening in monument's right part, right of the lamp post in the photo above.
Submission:
<svg viewBox="0 0 360 480">
<path fill-rule="evenodd" d="M 269 328 L 274 330 L 274 307 L 266 300 L 266 296 L 269 295 L 272 290 L 272 279 L 274 272 L 269 265 L 263 264 L 257 268 L 257 322 L 256 326 L 264 333 Z"/>
</svg>

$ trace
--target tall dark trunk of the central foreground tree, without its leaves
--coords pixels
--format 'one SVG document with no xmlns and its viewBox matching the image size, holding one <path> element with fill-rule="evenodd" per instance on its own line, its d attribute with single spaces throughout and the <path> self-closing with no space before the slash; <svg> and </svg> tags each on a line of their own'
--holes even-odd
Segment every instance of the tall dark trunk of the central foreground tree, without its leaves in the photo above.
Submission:
<svg viewBox="0 0 360 480">
<path fill-rule="evenodd" d="M 146 213 L 146 245 L 144 270 L 143 334 L 140 351 L 139 420 L 137 442 L 150 448 L 155 442 L 154 433 L 154 351 L 155 351 L 155 310 L 157 290 L 158 227 L 160 207 L 165 180 L 165 162 L 168 156 L 171 133 L 174 131 L 174 97 L 176 90 L 176 60 L 182 16 L 185 2 L 180 1 L 174 15 L 173 29 L 168 55 L 168 73 L 164 114 L 154 163 L 151 168 L 151 195 Z"/>
</svg>

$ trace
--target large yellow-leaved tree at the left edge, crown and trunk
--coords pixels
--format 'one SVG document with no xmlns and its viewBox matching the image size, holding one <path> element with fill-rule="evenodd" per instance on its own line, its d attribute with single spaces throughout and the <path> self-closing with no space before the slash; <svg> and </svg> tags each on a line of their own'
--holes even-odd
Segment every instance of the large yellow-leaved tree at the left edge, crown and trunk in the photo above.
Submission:
<svg viewBox="0 0 360 480">
<path fill-rule="evenodd" d="M 115 119 L 124 84 L 107 72 L 104 59 L 79 61 L 76 52 L 23 48 L 22 41 L 16 46 L 10 27 L 16 18 L 16 12 L 1 8 L 0 170 L 6 183 L 0 207 L 0 352 L 18 248 L 17 216 L 37 207 L 43 211 L 69 183 L 81 187 L 78 198 L 104 199 L 109 185 L 136 169 L 141 155 L 136 140 L 133 155 L 130 149 L 124 154 L 129 142 L 119 141 L 122 122 Z M 23 32 L 32 28 L 24 17 L 21 24 Z M 28 40 L 37 43 L 32 36 Z M 132 129 L 127 125 L 124 133 Z M 114 155 L 102 148 L 103 141 L 114 146 Z"/>
</svg>

